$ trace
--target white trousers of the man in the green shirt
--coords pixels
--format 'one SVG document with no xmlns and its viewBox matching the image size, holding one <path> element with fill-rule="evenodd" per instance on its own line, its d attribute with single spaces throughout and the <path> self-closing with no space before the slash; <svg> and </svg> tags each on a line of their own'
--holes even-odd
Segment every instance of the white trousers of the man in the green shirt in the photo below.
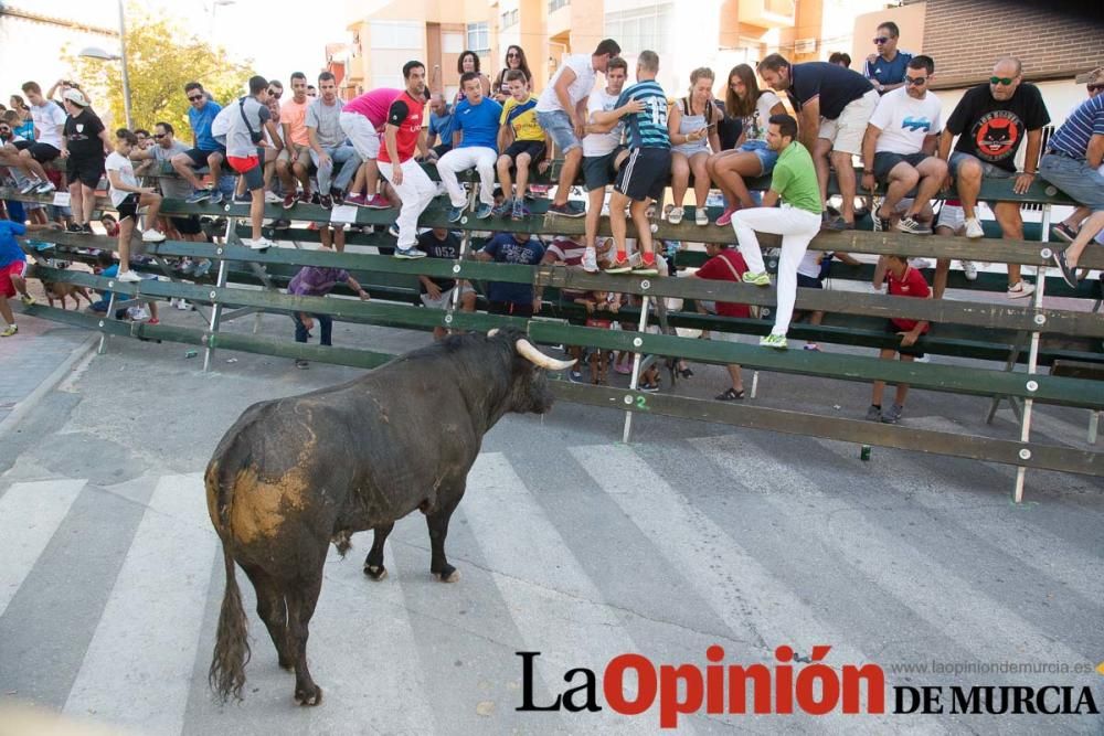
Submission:
<svg viewBox="0 0 1104 736">
<path fill-rule="evenodd" d="M 782 257 L 778 259 L 778 305 L 774 316 L 772 334 L 786 334 L 789 320 L 794 316 L 794 300 L 797 299 L 797 267 L 817 233 L 820 232 L 820 215 L 807 210 L 798 210 L 788 204 L 781 207 L 752 207 L 736 210 L 732 214 L 732 228 L 736 231 L 740 255 L 751 274 L 763 274 L 763 252 L 760 249 L 755 231 L 782 235 Z"/>
</svg>

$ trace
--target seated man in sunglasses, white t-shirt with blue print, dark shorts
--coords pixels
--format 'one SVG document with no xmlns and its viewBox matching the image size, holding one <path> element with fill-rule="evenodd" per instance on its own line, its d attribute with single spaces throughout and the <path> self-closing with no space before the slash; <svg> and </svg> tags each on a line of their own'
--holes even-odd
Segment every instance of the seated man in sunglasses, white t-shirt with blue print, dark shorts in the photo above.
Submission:
<svg viewBox="0 0 1104 736">
<path fill-rule="evenodd" d="M 874 231 L 887 231 L 894 207 L 913 188 L 916 196 L 909 204 L 896 230 L 912 235 L 927 235 L 917 215 L 940 191 L 947 178 L 947 163 L 935 156 L 943 130 L 943 104 L 927 90 L 935 72 L 931 56 L 909 61 L 905 87 L 894 89 L 878 100 L 862 139 L 862 189 L 873 190 L 875 181 L 889 189 L 881 207 L 873 213 Z"/>
</svg>

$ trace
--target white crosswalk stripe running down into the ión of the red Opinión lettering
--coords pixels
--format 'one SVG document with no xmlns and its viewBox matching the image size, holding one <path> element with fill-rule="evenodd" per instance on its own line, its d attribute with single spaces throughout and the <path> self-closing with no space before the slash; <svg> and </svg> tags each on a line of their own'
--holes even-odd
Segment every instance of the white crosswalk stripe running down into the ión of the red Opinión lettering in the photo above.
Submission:
<svg viewBox="0 0 1104 736">
<path fill-rule="evenodd" d="M 831 662 L 862 664 L 870 658 L 850 646 L 841 632 L 818 620 L 799 596 L 766 570 L 681 493 L 656 474 L 628 447 L 575 447 L 575 459 L 609 498 L 633 520 L 675 566 L 692 580 L 698 594 L 739 636 L 760 642 L 763 661 L 773 665 L 782 644 L 808 653 L 814 644 L 831 646 Z M 730 573 L 735 570 L 735 578 Z M 862 697 L 862 710 L 866 696 Z M 905 724 L 883 717 L 829 714 L 817 718 L 828 729 L 885 733 L 912 727 L 916 733 L 942 733 L 935 722 Z M 907 732 L 905 732 L 907 733 Z"/>
</svg>

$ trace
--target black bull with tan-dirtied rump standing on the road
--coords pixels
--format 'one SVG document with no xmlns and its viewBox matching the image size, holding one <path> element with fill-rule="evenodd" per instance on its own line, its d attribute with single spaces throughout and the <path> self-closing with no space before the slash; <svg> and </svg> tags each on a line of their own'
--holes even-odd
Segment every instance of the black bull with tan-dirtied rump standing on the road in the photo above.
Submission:
<svg viewBox="0 0 1104 736">
<path fill-rule="evenodd" d="M 253 583 L 280 666 L 295 669 L 296 702 L 318 704 L 307 627 L 330 542 L 343 554 L 351 534 L 374 530 L 364 572 L 382 579 L 395 520 L 421 509 L 431 573 L 457 579 L 445 536 L 484 434 L 507 412 L 548 412 L 552 393 L 541 366 L 569 365 L 538 352 L 521 332 L 491 331 L 448 338 L 340 386 L 247 408 L 204 476 L 226 564 L 210 670 L 216 694 L 241 700 L 250 658 L 235 563 Z"/>
</svg>

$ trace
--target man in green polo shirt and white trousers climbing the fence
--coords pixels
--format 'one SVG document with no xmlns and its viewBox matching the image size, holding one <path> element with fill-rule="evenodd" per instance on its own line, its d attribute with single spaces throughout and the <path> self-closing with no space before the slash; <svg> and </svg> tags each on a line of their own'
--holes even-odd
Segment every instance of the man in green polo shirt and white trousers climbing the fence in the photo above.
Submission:
<svg viewBox="0 0 1104 736">
<path fill-rule="evenodd" d="M 778 152 L 771 178 L 771 191 L 763 195 L 763 206 L 737 210 L 732 215 L 740 255 L 747 263 L 745 284 L 771 286 L 763 265 L 755 231 L 782 235 L 782 257 L 778 259 L 778 307 L 771 334 L 760 344 L 786 349 L 786 332 L 794 316 L 797 298 L 797 267 L 805 257 L 809 241 L 820 232 L 820 186 L 813 157 L 797 142 L 797 120 L 788 115 L 772 115 L 766 134 L 767 146 Z M 782 200 L 782 206 L 775 204 Z"/>
</svg>

